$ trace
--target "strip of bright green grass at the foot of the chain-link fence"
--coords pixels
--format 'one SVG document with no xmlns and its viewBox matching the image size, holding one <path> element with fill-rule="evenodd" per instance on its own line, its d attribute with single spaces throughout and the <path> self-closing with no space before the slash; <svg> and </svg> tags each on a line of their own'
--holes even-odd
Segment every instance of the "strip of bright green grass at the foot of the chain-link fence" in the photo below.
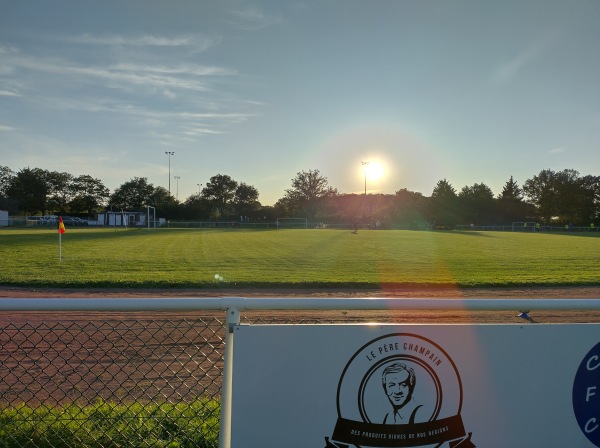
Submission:
<svg viewBox="0 0 600 448">
<path fill-rule="evenodd" d="M 208 448 L 218 444 L 220 405 L 193 403 L 0 409 L 0 447 Z"/>
</svg>

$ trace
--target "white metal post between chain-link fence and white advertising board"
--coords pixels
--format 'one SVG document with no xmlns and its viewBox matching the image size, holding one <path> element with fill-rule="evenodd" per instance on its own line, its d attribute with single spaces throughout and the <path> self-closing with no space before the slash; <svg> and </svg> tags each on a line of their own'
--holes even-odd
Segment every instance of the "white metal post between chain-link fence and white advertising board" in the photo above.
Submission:
<svg viewBox="0 0 600 448">
<path fill-rule="evenodd" d="M 233 395 L 233 330 L 240 323 L 237 308 L 227 309 L 225 335 L 225 355 L 223 356 L 223 386 L 221 388 L 221 425 L 219 427 L 219 448 L 231 447 L 231 397 Z"/>
</svg>

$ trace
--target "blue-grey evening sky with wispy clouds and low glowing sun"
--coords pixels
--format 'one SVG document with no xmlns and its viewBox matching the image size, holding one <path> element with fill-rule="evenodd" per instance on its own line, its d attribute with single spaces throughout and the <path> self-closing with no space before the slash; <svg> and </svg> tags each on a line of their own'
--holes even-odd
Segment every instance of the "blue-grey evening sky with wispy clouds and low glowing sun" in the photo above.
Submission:
<svg viewBox="0 0 600 448">
<path fill-rule="evenodd" d="M 180 201 L 226 174 L 263 205 L 308 170 L 600 175 L 599 48 L 597 0 L 0 0 L 0 165 Z"/>
</svg>

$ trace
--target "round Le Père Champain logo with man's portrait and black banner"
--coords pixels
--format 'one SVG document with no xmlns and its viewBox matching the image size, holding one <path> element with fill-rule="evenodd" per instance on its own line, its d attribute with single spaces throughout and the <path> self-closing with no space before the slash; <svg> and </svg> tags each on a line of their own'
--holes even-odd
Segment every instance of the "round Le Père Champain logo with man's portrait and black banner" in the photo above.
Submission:
<svg viewBox="0 0 600 448">
<path fill-rule="evenodd" d="M 474 447 L 460 416 L 462 399 L 458 370 L 439 345 L 410 333 L 381 336 L 342 372 L 326 448 Z"/>
</svg>

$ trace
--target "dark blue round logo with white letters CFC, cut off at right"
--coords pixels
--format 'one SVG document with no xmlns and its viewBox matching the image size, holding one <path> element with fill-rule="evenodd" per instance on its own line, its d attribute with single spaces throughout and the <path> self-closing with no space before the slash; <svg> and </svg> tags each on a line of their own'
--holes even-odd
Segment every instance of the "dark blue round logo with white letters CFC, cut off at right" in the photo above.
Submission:
<svg viewBox="0 0 600 448">
<path fill-rule="evenodd" d="M 575 374 L 573 411 L 583 434 L 600 447 L 600 342 L 583 358 Z"/>
</svg>

